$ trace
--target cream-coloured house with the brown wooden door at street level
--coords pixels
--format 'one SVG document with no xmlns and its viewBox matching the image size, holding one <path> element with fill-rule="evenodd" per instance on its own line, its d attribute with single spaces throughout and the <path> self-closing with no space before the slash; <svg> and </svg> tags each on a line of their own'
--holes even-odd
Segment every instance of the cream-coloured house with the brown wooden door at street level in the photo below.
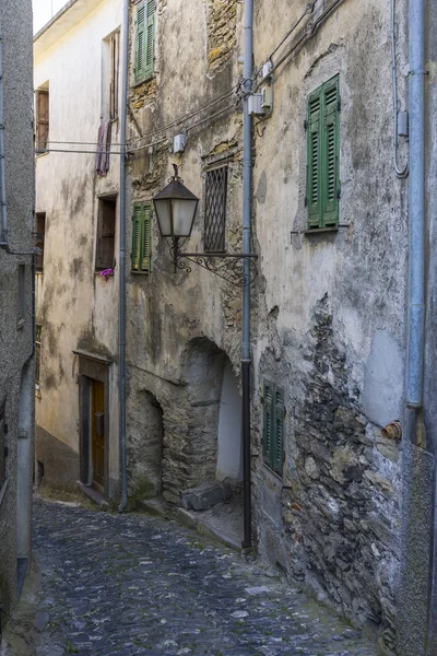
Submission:
<svg viewBox="0 0 437 656">
<path fill-rule="evenodd" d="M 69 2 L 34 38 L 36 462 L 118 495 L 121 2 Z M 97 144 L 97 145 L 96 145 Z"/>
</svg>

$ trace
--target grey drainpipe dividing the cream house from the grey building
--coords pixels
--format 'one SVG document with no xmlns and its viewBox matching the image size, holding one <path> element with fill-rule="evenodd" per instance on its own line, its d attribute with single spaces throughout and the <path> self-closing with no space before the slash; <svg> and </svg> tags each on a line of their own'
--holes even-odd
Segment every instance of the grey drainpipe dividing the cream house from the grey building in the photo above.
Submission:
<svg viewBox="0 0 437 656">
<path fill-rule="evenodd" d="M 120 251 L 119 266 L 119 437 L 121 464 L 121 503 L 119 512 L 122 513 L 128 505 L 128 481 L 126 461 L 126 124 L 128 107 L 128 58 L 129 58 L 129 0 L 123 3 L 122 17 L 122 85 L 121 85 L 121 115 L 120 115 Z"/>
</svg>

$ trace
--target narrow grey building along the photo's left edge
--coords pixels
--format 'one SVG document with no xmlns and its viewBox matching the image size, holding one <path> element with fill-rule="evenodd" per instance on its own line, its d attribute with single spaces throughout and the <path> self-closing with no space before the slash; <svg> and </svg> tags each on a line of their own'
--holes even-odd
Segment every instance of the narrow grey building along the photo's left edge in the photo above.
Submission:
<svg viewBox="0 0 437 656">
<path fill-rule="evenodd" d="M 0 632 L 31 555 L 34 421 L 32 5 L 0 7 Z M 1 639 L 1 635 L 0 635 Z"/>
</svg>

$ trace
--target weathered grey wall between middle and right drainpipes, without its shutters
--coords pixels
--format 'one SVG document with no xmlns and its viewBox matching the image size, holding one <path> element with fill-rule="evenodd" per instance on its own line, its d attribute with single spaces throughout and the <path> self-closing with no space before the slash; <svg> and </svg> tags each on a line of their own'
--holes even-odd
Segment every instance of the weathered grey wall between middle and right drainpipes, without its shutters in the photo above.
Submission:
<svg viewBox="0 0 437 656">
<path fill-rule="evenodd" d="M 258 5 L 257 66 L 283 36 L 274 16 L 292 25 L 305 8 Z M 389 19 L 380 2 L 340 3 L 275 74 L 273 114 L 256 137 L 263 300 L 253 423 L 262 423 L 265 377 L 285 389 L 287 413 L 282 480 L 262 465 L 259 446 L 261 553 L 346 614 L 378 624 L 393 648 L 401 469 L 399 447 L 380 429 L 399 419 L 403 401 L 408 215 L 406 185 L 392 168 Z M 401 66 L 403 28 L 402 20 Z M 340 224 L 347 227 L 307 235 L 306 98 L 335 74 Z"/>
</svg>

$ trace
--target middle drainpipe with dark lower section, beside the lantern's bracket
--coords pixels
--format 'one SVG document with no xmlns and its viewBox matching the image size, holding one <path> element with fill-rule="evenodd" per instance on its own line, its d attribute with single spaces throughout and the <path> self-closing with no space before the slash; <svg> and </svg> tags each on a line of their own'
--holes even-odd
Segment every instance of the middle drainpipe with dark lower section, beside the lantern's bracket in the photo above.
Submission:
<svg viewBox="0 0 437 656">
<path fill-rule="evenodd" d="M 252 119 L 249 114 L 249 94 L 253 74 L 253 0 L 245 2 L 245 104 L 243 141 L 243 253 L 250 254 L 251 242 L 251 191 L 252 191 Z M 250 259 L 245 259 L 245 277 L 250 280 Z M 251 520 L 251 458 L 250 458 L 250 284 L 243 288 L 243 484 L 244 484 L 244 549 L 252 543 Z"/>
</svg>

